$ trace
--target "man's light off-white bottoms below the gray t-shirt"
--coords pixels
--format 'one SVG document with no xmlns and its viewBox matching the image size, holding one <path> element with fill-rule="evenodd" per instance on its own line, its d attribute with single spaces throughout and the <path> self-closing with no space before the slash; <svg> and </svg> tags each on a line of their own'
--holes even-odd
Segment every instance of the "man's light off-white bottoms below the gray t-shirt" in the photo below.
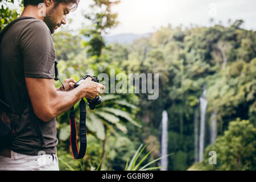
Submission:
<svg viewBox="0 0 256 182">
<path fill-rule="evenodd" d="M 59 171 L 56 154 L 24 155 L 11 151 L 11 158 L 0 156 L 0 171 Z"/>
</svg>

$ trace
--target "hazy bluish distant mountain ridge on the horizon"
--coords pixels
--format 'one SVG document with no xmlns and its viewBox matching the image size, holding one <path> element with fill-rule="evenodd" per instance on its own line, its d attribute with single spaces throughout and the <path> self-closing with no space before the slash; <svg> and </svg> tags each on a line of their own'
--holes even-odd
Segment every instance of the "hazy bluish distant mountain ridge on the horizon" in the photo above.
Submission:
<svg viewBox="0 0 256 182">
<path fill-rule="evenodd" d="M 131 44 L 136 39 L 141 38 L 148 38 L 151 33 L 147 34 L 117 34 L 117 35 L 111 35 L 111 36 L 105 36 L 105 42 L 106 44 L 112 44 L 112 43 L 118 43 L 118 44 Z"/>
</svg>

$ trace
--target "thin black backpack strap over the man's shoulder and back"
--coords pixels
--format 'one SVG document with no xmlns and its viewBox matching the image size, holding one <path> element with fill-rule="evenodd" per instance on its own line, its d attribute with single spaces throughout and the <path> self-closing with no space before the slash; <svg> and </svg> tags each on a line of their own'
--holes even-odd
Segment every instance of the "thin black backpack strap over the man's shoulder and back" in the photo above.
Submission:
<svg viewBox="0 0 256 182">
<path fill-rule="evenodd" d="M 1 31 L 1 33 L 0 33 L 0 46 L 1 46 L 3 36 L 7 32 L 7 30 L 9 30 L 9 28 L 11 26 L 13 26 L 14 23 L 19 22 L 20 20 L 31 19 L 31 18 L 33 18 L 33 17 L 22 16 L 20 18 L 13 20 L 13 22 L 7 24 L 7 26 L 5 28 L 3 28 L 3 31 Z M 0 59 L 0 65 L 1 65 L 1 59 Z M 3 85 L 2 78 L 1 78 L 1 69 L 0 69 L 0 85 Z M 10 105 L 7 104 L 7 102 L 6 102 L 5 92 L 3 91 L 2 86 L 0 87 L 0 109 L 3 111 L 6 111 L 7 113 L 9 113 L 9 111 L 10 111 Z"/>
</svg>

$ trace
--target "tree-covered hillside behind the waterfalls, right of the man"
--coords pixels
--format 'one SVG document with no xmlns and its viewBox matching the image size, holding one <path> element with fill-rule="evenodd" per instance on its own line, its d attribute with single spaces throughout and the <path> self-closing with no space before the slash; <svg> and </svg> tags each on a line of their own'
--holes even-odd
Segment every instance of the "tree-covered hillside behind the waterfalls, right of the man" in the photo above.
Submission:
<svg viewBox="0 0 256 182">
<path fill-rule="evenodd" d="M 255 125 L 256 33 L 243 30 L 242 23 L 183 30 L 168 25 L 147 39 L 127 46 L 113 44 L 112 50 L 105 51 L 115 60 L 118 57 L 126 73 L 159 73 L 159 99 L 147 101 L 146 95 L 138 94 L 143 109 L 137 115 L 150 121 L 150 127 L 159 127 L 159 116 L 167 108 L 168 149 L 175 152 L 169 169 L 184 170 L 193 163 L 193 118 L 203 84 L 207 85 L 207 131 L 213 110 L 217 111 L 218 135 L 237 117 Z"/>
</svg>

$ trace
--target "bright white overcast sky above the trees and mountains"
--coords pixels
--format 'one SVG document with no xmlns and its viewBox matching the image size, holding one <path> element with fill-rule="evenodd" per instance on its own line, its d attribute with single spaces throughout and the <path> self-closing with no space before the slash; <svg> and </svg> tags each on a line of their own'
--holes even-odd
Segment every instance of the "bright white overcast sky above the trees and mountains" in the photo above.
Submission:
<svg viewBox="0 0 256 182">
<path fill-rule="evenodd" d="M 91 3 L 92 0 L 80 0 L 79 8 L 68 15 L 73 19 L 68 27 L 77 30 L 82 22 L 88 24 L 82 14 Z M 256 0 L 121 0 L 112 10 L 118 13 L 120 23 L 109 35 L 145 34 L 168 24 L 173 27 L 180 24 L 189 27 L 191 23 L 211 26 L 210 18 L 224 25 L 228 24 L 228 19 L 243 19 L 243 28 L 256 30 Z"/>
</svg>

